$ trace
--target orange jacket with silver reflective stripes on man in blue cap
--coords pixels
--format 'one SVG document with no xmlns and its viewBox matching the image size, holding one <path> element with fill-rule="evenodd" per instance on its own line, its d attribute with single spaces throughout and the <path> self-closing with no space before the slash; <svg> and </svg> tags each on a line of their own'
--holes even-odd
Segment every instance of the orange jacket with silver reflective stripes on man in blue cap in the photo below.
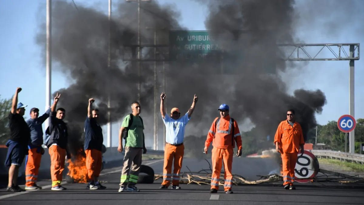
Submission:
<svg viewBox="0 0 364 205">
<path fill-rule="evenodd" d="M 232 122 L 230 116 L 220 117 L 217 125 L 216 120 L 213 121 L 211 128 L 209 130 L 209 134 L 207 134 L 207 139 L 205 142 L 205 146 L 209 147 L 212 141 L 212 146 L 221 149 L 234 148 L 235 142 L 239 150 L 241 150 L 241 135 L 238 127 L 238 123 L 234 120 Z M 232 126 L 234 126 L 234 133 L 232 134 Z M 233 135 L 233 136 L 232 136 Z M 233 141 L 233 137 L 234 140 Z"/>
</svg>

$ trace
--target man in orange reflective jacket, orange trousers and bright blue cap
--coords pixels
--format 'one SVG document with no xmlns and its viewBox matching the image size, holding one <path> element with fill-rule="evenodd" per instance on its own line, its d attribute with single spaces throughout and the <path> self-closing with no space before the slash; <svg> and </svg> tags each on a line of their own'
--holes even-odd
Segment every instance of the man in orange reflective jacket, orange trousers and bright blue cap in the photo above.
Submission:
<svg viewBox="0 0 364 205">
<path fill-rule="evenodd" d="M 211 176 L 211 190 L 210 193 L 217 193 L 219 189 L 219 178 L 220 171 L 222 167 L 222 161 L 224 162 L 224 190 L 227 194 L 232 194 L 233 187 L 233 175 L 231 173 L 233 164 L 233 154 L 235 147 L 235 142 L 238 147 L 236 153 L 237 156 L 241 156 L 241 135 L 238 127 L 238 123 L 230 118 L 229 106 L 226 104 L 220 105 L 218 108 L 220 111 L 220 117 L 217 117 L 207 134 L 207 139 L 205 142 L 205 153 L 207 154 L 207 149 L 212 141 L 212 176 Z"/>
</svg>

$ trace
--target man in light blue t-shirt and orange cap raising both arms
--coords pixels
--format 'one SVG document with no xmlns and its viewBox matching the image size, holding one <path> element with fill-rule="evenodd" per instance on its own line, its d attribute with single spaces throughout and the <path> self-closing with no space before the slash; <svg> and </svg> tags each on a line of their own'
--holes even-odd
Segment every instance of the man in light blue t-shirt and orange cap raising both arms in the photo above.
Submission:
<svg viewBox="0 0 364 205">
<path fill-rule="evenodd" d="M 166 126 L 166 146 L 164 151 L 164 164 L 163 164 L 163 182 L 159 189 L 167 189 L 172 180 L 172 189 L 180 189 L 179 187 L 179 172 L 182 167 L 182 160 L 185 147 L 183 146 L 183 138 L 185 135 L 186 124 L 191 118 L 191 115 L 195 109 L 195 104 L 198 98 L 195 94 L 193 102 L 188 112 L 181 118 L 181 113 L 178 108 L 172 108 L 170 116 L 166 115 L 166 109 L 164 100 L 166 94 L 161 94 L 161 115 L 163 122 Z M 174 162 L 173 162 L 174 158 Z M 173 176 L 172 163 L 174 163 Z"/>
</svg>

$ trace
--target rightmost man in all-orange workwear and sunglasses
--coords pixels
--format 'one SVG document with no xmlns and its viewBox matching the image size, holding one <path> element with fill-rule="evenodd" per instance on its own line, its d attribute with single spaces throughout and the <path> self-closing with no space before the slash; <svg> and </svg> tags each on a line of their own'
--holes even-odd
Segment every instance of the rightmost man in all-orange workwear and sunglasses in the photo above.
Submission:
<svg viewBox="0 0 364 205">
<path fill-rule="evenodd" d="M 276 151 L 281 153 L 284 189 L 296 189 L 294 182 L 294 167 L 298 158 L 298 148 L 301 146 L 301 155 L 305 144 L 302 128 L 294 121 L 294 110 L 287 111 L 287 120 L 281 121 L 274 136 Z"/>
</svg>

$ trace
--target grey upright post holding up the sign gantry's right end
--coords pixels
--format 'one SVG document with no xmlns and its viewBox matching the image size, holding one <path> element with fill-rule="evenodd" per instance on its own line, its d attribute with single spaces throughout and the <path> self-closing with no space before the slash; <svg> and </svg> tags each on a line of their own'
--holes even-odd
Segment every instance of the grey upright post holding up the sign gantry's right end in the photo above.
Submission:
<svg viewBox="0 0 364 205">
<path fill-rule="evenodd" d="M 350 57 L 354 57 L 354 45 L 350 45 Z M 349 115 L 354 116 L 354 60 L 349 62 Z M 349 151 L 351 154 L 355 153 L 355 134 L 354 130 L 349 134 Z"/>
</svg>

